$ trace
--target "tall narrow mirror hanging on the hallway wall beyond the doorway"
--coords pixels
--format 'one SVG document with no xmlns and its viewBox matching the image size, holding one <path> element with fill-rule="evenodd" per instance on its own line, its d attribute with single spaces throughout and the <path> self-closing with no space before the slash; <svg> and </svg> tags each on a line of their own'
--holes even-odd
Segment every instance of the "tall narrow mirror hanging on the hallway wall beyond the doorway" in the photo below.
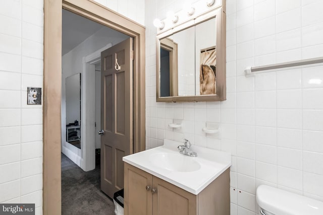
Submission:
<svg viewBox="0 0 323 215">
<path fill-rule="evenodd" d="M 81 74 L 66 78 L 66 141 L 81 149 Z"/>
</svg>

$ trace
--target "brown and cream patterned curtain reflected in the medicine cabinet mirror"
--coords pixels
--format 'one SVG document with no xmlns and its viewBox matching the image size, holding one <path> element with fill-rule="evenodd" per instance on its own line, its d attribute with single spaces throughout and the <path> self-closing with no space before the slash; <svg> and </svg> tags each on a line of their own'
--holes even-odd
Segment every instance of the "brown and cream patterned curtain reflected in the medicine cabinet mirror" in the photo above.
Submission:
<svg viewBox="0 0 323 215">
<path fill-rule="evenodd" d="M 203 49 L 200 53 L 200 95 L 216 94 L 216 47 Z"/>
</svg>

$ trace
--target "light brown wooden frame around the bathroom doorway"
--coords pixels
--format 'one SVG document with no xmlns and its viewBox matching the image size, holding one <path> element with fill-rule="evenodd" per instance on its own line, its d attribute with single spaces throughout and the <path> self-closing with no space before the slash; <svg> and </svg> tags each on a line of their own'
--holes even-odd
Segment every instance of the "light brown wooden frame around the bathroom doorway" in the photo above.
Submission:
<svg viewBox="0 0 323 215">
<path fill-rule="evenodd" d="M 43 214 L 61 214 L 62 9 L 134 38 L 134 153 L 145 150 L 145 27 L 92 0 L 44 0 Z"/>
</svg>

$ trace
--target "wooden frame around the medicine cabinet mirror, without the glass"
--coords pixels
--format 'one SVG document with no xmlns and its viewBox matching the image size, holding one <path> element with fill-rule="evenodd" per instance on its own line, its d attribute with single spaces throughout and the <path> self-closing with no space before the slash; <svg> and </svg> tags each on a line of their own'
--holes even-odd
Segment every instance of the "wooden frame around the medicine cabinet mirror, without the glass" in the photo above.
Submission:
<svg viewBox="0 0 323 215">
<path fill-rule="evenodd" d="M 225 1 L 224 1 L 225 2 Z M 160 97 L 160 39 L 166 38 L 177 32 L 183 31 L 192 26 L 196 26 L 202 22 L 216 18 L 217 23 L 217 81 L 215 95 L 194 95 L 194 96 L 170 96 Z M 196 71 L 195 71 L 196 73 Z M 171 84 L 171 86 L 173 86 Z M 196 89 L 194 89 L 196 92 Z M 160 32 L 156 36 L 156 101 L 157 102 L 199 102 L 199 101 L 223 101 L 226 100 L 226 14 L 225 5 L 222 7 L 208 11 L 202 15 L 192 18 L 184 23 L 181 23 L 172 29 Z"/>
</svg>

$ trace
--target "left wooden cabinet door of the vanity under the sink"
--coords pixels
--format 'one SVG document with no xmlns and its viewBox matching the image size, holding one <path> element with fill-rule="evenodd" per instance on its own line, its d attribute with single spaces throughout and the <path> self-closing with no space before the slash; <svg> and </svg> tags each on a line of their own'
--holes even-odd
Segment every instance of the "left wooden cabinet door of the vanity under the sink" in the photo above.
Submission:
<svg viewBox="0 0 323 215">
<path fill-rule="evenodd" d="M 151 187 L 152 175 L 125 163 L 125 215 L 152 214 Z"/>
</svg>

